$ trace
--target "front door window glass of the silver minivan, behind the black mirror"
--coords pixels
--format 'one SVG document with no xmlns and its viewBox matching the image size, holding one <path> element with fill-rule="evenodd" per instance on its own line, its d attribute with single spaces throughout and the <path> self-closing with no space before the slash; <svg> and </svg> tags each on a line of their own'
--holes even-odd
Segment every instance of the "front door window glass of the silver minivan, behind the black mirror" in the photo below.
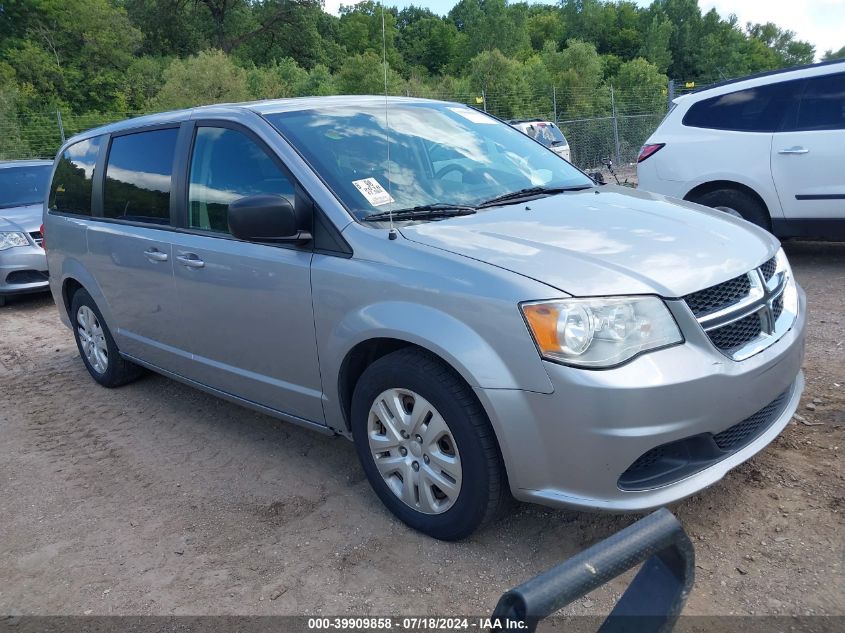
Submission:
<svg viewBox="0 0 845 633">
<path fill-rule="evenodd" d="M 188 187 L 191 228 L 229 232 L 229 204 L 253 194 L 277 194 L 295 205 L 294 186 L 248 136 L 220 127 L 198 127 Z"/>
</svg>

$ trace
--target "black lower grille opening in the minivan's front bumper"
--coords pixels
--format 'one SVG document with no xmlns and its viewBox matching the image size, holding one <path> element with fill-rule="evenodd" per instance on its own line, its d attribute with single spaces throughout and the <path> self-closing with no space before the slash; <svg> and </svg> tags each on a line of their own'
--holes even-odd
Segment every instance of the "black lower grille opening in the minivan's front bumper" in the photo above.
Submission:
<svg viewBox="0 0 845 633">
<path fill-rule="evenodd" d="M 741 422 L 715 435 L 702 433 L 662 444 L 643 453 L 619 477 L 622 490 L 648 490 L 704 470 L 748 446 L 783 413 L 792 387 Z"/>
</svg>

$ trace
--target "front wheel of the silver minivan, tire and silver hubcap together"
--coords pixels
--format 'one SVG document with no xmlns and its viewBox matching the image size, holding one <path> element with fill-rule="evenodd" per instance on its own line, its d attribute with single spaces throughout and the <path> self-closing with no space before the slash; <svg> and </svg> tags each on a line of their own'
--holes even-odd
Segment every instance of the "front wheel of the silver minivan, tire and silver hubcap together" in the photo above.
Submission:
<svg viewBox="0 0 845 633">
<path fill-rule="evenodd" d="M 425 352 L 399 350 L 366 369 L 352 397 L 352 433 L 376 494 L 429 536 L 468 536 L 509 499 L 493 429 L 475 394 Z"/>
</svg>

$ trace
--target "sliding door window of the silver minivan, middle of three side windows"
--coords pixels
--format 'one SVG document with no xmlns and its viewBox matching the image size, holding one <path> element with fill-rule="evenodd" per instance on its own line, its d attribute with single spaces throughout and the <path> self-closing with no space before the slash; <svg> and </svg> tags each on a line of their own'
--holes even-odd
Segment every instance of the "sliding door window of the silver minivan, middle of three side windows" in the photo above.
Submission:
<svg viewBox="0 0 845 633">
<path fill-rule="evenodd" d="M 136 132 L 112 139 L 103 216 L 170 224 L 170 176 L 179 130 Z"/>
</svg>

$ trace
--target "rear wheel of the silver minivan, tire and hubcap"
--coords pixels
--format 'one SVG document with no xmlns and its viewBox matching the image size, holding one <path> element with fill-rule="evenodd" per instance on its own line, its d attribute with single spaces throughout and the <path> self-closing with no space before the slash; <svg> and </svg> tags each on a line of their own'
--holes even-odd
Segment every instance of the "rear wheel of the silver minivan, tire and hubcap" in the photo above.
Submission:
<svg viewBox="0 0 845 633">
<path fill-rule="evenodd" d="M 70 317 L 79 355 L 94 380 L 104 387 L 119 387 L 141 375 L 140 367 L 120 356 L 103 315 L 85 290 L 74 293 Z"/>
</svg>

